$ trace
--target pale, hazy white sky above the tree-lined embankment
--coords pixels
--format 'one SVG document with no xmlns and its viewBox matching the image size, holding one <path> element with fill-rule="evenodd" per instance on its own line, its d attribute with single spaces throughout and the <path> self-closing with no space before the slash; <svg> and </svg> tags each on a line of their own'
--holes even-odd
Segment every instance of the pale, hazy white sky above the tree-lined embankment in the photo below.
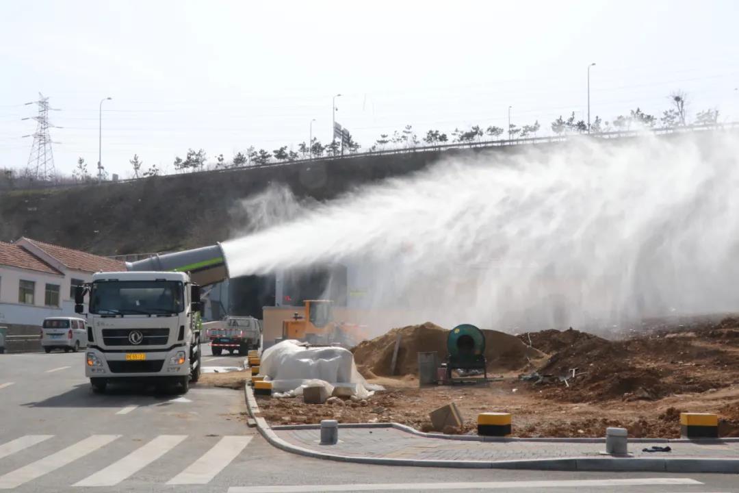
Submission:
<svg viewBox="0 0 739 493">
<path fill-rule="evenodd" d="M 0 0 L 0 167 L 27 166 L 50 98 L 55 169 L 78 157 L 130 177 L 172 171 L 188 148 L 214 162 L 249 146 L 297 150 L 336 121 L 371 146 L 412 125 L 450 133 L 559 115 L 739 120 L 735 1 Z"/>
</svg>

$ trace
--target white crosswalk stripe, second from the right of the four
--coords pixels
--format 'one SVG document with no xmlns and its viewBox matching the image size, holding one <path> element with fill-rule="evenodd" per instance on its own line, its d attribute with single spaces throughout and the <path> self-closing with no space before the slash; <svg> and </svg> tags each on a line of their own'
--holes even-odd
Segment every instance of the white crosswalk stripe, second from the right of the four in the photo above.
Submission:
<svg viewBox="0 0 739 493">
<path fill-rule="evenodd" d="M 165 455 L 185 438 L 187 435 L 159 435 L 126 457 L 75 483 L 74 486 L 115 486 Z"/>
</svg>

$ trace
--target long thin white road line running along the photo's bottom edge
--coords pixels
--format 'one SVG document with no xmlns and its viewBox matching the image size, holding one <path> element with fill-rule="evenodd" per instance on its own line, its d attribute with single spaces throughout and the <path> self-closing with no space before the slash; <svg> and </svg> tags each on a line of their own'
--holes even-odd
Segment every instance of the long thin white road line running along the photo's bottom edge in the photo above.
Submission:
<svg viewBox="0 0 739 493">
<path fill-rule="evenodd" d="M 687 477 L 639 477 L 634 479 L 495 481 L 490 483 L 386 483 L 386 484 L 311 484 L 301 486 L 231 486 L 228 493 L 314 493 L 406 491 L 418 489 L 520 489 L 579 488 L 582 486 L 675 486 L 703 484 Z"/>
</svg>

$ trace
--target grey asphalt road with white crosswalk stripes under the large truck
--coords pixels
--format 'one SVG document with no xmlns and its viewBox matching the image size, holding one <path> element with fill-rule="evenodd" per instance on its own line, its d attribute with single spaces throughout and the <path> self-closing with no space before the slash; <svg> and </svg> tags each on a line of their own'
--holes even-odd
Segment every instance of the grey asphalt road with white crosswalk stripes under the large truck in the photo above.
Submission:
<svg viewBox="0 0 739 493">
<path fill-rule="evenodd" d="M 211 356 L 230 367 L 238 356 Z M 140 386 L 93 394 L 84 353 L 0 355 L 0 490 L 13 492 L 739 492 L 736 475 L 516 472 L 367 466 L 274 449 L 243 393 Z"/>
</svg>

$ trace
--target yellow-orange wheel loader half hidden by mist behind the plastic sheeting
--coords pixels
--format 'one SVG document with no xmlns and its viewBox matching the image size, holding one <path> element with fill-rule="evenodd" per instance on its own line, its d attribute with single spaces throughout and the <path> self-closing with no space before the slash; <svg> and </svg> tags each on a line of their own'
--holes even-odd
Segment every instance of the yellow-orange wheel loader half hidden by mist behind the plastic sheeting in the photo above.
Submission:
<svg viewBox="0 0 739 493">
<path fill-rule="evenodd" d="M 353 347 L 365 337 L 357 324 L 334 322 L 330 299 L 307 299 L 304 317 L 296 313 L 292 319 L 282 321 L 282 339 Z"/>
</svg>

